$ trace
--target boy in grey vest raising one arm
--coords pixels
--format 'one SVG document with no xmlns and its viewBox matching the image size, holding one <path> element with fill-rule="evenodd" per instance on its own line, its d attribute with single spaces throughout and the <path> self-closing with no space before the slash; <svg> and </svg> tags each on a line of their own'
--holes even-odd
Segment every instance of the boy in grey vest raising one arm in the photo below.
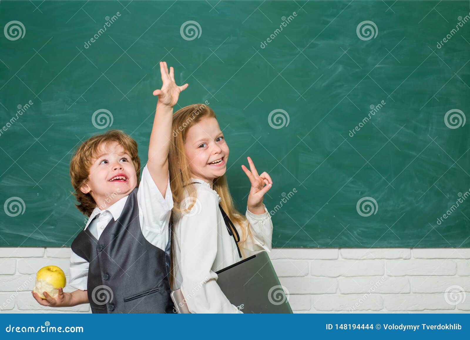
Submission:
<svg viewBox="0 0 470 340">
<path fill-rule="evenodd" d="M 55 298 L 44 292 L 45 300 L 32 292 L 39 304 L 90 303 L 93 313 L 173 312 L 168 151 L 173 106 L 188 84 L 177 86 L 165 62 L 160 71 L 163 86 L 154 92 L 159 102 L 140 184 L 137 143 L 122 131 L 87 139 L 72 157 L 77 208 L 89 217 L 71 245 L 69 286 L 77 290 L 59 288 Z"/>
</svg>

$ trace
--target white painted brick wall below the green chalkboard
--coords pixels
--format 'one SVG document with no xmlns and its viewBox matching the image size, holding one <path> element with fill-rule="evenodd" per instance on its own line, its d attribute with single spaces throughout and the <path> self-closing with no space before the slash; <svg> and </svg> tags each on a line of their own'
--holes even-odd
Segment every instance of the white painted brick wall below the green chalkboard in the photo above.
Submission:
<svg viewBox="0 0 470 340">
<path fill-rule="evenodd" d="M 91 313 L 89 305 L 43 307 L 31 296 L 46 265 L 68 279 L 70 252 L 0 247 L 0 313 Z M 295 312 L 470 312 L 469 248 L 274 248 L 270 256 Z"/>
</svg>

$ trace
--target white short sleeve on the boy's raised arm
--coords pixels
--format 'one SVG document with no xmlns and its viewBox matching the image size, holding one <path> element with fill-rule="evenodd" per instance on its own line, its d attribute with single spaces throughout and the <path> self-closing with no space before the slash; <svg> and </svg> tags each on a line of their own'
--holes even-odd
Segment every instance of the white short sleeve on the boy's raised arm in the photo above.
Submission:
<svg viewBox="0 0 470 340">
<path fill-rule="evenodd" d="M 139 221 L 146 240 L 156 247 L 165 250 L 168 243 L 168 224 L 173 208 L 173 197 L 170 188 L 170 176 L 165 197 L 150 176 L 147 165 L 142 170 L 141 183 L 137 191 L 139 204 Z"/>
</svg>

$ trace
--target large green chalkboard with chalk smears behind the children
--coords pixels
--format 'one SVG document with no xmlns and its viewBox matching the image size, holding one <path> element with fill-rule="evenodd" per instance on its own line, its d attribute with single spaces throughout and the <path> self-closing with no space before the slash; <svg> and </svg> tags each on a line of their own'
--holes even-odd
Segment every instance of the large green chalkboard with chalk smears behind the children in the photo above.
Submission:
<svg viewBox="0 0 470 340">
<path fill-rule="evenodd" d="M 69 162 L 91 135 L 123 129 L 146 162 L 164 60 L 189 83 L 175 109 L 207 100 L 216 112 L 238 208 L 246 156 L 273 178 L 274 247 L 469 247 L 469 12 L 1 1 L 0 246 L 71 244 L 85 218 Z"/>
</svg>

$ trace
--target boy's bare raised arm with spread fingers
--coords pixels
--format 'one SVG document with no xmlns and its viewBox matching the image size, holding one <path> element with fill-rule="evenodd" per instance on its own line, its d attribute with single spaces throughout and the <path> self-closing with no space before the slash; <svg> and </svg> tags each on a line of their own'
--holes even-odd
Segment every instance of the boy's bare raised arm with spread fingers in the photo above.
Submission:
<svg viewBox="0 0 470 340">
<path fill-rule="evenodd" d="M 165 197 L 168 185 L 168 152 L 170 150 L 173 106 L 178 102 L 180 93 L 188 87 L 188 84 L 178 86 L 174 79 L 174 70 L 166 62 L 160 62 L 162 75 L 162 88 L 153 92 L 158 96 L 157 109 L 153 121 L 152 133 L 149 142 L 149 161 L 147 168 L 150 176 Z"/>
</svg>

